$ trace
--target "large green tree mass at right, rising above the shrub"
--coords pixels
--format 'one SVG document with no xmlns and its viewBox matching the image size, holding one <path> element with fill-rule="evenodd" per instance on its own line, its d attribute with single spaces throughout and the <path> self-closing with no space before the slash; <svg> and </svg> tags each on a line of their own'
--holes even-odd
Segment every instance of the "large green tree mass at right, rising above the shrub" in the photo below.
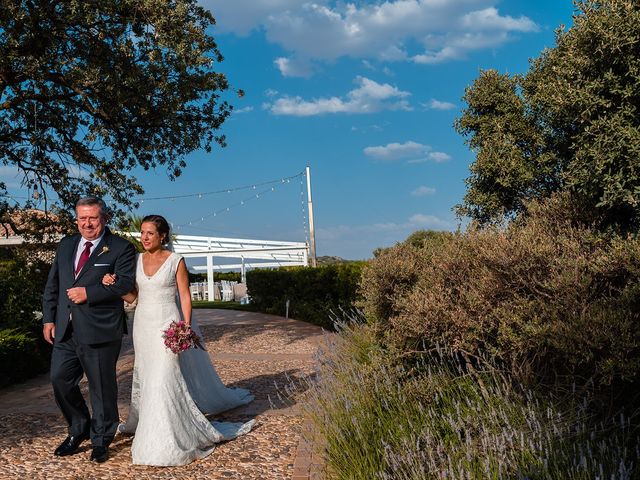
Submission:
<svg viewBox="0 0 640 480">
<path fill-rule="evenodd" d="M 476 154 L 461 214 L 481 223 L 571 192 L 603 225 L 640 223 L 640 2 L 575 2 L 524 75 L 481 72 L 456 122 Z"/>
</svg>

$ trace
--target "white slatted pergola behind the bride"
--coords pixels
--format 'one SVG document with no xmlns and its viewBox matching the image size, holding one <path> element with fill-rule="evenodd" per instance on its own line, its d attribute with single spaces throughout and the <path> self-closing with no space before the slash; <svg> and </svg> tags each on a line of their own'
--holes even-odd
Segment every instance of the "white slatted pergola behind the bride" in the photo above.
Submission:
<svg viewBox="0 0 640 480">
<path fill-rule="evenodd" d="M 139 233 L 129 235 L 140 237 Z M 171 245 L 185 259 L 205 259 L 205 265 L 192 265 L 190 268 L 207 272 L 209 298 L 214 298 L 215 271 L 240 270 L 242 282 L 245 282 L 247 269 L 309 265 L 309 245 L 305 242 L 176 235 Z M 216 262 L 216 258 L 225 259 L 225 263 Z M 231 262 L 226 263 L 228 260 Z"/>
</svg>

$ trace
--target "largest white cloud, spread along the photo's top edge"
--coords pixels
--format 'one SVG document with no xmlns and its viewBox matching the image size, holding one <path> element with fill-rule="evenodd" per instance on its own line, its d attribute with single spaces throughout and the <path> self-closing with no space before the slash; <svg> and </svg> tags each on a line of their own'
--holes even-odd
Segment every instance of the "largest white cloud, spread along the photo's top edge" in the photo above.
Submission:
<svg viewBox="0 0 640 480">
<path fill-rule="evenodd" d="M 498 0 L 201 0 L 218 29 L 266 37 L 299 58 L 343 56 L 433 64 L 496 48 L 535 32 L 526 16 L 501 15 Z"/>
</svg>

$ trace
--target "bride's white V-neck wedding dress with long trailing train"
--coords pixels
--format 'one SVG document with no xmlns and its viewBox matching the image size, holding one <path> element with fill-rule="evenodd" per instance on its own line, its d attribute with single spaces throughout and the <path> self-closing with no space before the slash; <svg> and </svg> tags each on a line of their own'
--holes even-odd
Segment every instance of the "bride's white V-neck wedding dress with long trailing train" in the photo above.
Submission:
<svg viewBox="0 0 640 480">
<path fill-rule="evenodd" d="M 247 423 L 211 422 L 215 414 L 253 400 L 249 391 L 226 388 L 205 350 L 176 355 L 164 346 L 162 333 L 181 318 L 177 304 L 175 253 L 151 277 L 138 256 L 138 306 L 133 322 L 135 363 L 131 407 L 121 433 L 133 433 L 131 456 L 137 465 L 185 465 L 209 455 L 216 443 L 251 430 Z M 201 336 L 195 319 L 192 328 Z"/>
</svg>

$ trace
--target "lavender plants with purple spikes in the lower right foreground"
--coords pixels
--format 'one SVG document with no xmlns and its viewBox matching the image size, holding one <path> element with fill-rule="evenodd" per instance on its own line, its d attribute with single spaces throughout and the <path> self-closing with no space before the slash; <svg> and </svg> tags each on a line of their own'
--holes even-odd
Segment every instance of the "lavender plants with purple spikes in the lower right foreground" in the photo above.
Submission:
<svg viewBox="0 0 640 480">
<path fill-rule="evenodd" d="M 635 478 L 628 419 L 590 422 L 449 349 L 400 360 L 366 325 L 326 345 L 303 409 L 330 478 Z"/>
</svg>

